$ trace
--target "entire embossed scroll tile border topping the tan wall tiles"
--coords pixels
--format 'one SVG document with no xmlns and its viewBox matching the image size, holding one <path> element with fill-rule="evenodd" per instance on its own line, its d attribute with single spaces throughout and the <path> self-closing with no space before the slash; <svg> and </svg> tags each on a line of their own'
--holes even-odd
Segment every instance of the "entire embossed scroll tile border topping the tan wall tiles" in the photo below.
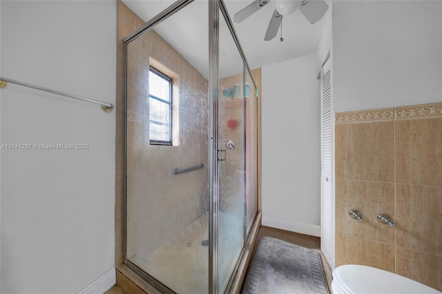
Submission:
<svg viewBox="0 0 442 294">
<path fill-rule="evenodd" d="M 396 108 L 381 108 L 353 112 L 338 112 L 336 124 L 393 121 L 398 119 L 422 119 L 442 117 L 442 103 L 421 104 Z"/>
</svg>

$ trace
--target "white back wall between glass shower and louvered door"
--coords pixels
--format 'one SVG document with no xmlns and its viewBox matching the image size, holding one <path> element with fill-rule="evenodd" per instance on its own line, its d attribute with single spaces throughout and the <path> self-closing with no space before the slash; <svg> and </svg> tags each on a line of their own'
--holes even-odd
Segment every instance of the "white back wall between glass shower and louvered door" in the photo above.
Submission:
<svg viewBox="0 0 442 294">
<path fill-rule="evenodd" d="M 262 68 L 262 224 L 320 235 L 317 56 Z"/>
</svg>

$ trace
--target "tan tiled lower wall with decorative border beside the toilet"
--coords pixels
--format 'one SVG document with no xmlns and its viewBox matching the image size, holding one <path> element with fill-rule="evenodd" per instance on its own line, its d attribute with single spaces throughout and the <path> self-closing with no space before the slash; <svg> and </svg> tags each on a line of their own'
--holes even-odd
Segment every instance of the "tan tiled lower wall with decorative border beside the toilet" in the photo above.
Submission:
<svg viewBox="0 0 442 294">
<path fill-rule="evenodd" d="M 442 103 L 341 112 L 335 124 L 336 266 L 374 266 L 442 291 Z"/>
</svg>

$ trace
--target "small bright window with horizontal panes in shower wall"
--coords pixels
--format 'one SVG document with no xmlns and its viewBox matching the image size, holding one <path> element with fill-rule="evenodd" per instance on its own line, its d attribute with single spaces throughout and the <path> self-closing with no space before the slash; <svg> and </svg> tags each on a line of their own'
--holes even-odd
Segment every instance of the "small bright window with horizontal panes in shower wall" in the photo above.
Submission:
<svg viewBox="0 0 442 294">
<path fill-rule="evenodd" d="M 149 68 L 149 140 L 172 145 L 172 79 Z"/>
</svg>

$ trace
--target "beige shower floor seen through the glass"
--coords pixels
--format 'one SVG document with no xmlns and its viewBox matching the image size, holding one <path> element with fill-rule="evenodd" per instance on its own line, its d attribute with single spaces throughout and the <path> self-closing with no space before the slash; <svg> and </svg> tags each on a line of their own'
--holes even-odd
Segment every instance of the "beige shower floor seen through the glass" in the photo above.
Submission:
<svg viewBox="0 0 442 294">
<path fill-rule="evenodd" d="M 220 273 L 233 270 L 242 239 L 234 237 L 242 232 L 242 218 L 220 213 Z M 239 231 L 240 230 L 240 231 Z M 204 240 L 209 239 L 209 219 L 202 215 L 187 226 L 172 242 L 167 242 L 158 248 L 148 259 L 139 255 L 128 258 L 130 262 L 142 268 L 143 271 L 155 277 L 162 284 L 176 293 L 198 294 L 209 292 L 209 246 L 204 246 Z M 223 288 L 229 279 L 221 281 Z"/>
</svg>

